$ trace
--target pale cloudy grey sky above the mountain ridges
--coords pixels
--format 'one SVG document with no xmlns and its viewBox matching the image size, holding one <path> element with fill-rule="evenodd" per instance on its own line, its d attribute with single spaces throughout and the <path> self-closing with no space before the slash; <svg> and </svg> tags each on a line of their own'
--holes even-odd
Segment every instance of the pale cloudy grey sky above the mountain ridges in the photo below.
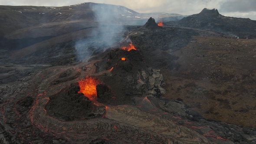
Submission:
<svg viewBox="0 0 256 144">
<path fill-rule="evenodd" d="M 203 8 L 216 8 L 223 16 L 256 20 L 256 0 L 0 0 L 0 5 L 57 7 L 86 2 L 121 5 L 138 13 L 191 15 L 200 13 Z"/>
</svg>

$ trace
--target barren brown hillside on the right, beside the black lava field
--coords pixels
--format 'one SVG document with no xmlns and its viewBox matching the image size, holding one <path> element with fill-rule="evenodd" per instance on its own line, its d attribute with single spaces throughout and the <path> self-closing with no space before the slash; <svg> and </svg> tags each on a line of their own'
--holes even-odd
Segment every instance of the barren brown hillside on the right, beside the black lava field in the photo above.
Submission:
<svg viewBox="0 0 256 144">
<path fill-rule="evenodd" d="M 171 53 L 178 67 L 162 67 L 164 97 L 184 101 L 204 118 L 255 128 L 255 45 L 255 39 L 194 37 Z"/>
</svg>

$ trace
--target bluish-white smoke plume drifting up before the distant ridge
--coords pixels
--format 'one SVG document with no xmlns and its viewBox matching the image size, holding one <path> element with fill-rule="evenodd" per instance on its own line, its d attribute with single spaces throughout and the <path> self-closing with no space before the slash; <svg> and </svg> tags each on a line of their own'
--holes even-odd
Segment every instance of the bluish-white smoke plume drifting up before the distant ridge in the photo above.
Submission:
<svg viewBox="0 0 256 144">
<path fill-rule="evenodd" d="M 90 7 L 98 26 L 92 30 L 91 37 L 75 43 L 77 56 L 82 62 L 123 40 L 125 32 L 124 25 L 118 21 L 121 20 L 120 7 L 97 3 L 91 3 Z"/>
</svg>

